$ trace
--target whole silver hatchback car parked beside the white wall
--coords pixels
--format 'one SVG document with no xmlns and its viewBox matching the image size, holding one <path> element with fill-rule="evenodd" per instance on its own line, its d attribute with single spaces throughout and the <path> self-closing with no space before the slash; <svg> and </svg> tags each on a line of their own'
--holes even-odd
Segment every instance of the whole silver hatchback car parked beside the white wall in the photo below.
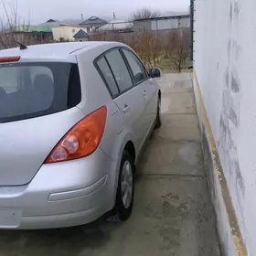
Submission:
<svg viewBox="0 0 256 256">
<path fill-rule="evenodd" d="M 1 50 L 0 229 L 128 219 L 160 75 L 116 42 Z"/>
</svg>

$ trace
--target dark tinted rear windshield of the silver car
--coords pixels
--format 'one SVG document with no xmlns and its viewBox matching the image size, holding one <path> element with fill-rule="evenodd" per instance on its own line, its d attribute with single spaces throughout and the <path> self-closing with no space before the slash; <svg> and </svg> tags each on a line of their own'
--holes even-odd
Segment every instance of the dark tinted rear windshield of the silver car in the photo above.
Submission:
<svg viewBox="0 0 256 256">
<path fill-rule="evenodd" d="M 0 64 L 0 123 L 65 111 L 80 100 L 77 64 Z"/>
</svg>

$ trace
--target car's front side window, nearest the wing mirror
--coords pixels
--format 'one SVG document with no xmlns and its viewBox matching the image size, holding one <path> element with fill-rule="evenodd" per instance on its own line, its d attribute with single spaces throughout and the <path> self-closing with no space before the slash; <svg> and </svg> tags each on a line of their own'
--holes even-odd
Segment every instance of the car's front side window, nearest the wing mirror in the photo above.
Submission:
<svg viewBox="0 0 256 256">
<path fill-rule="evenodd" d="M 134 82 L 137 84 L 147 79 L 147 75 L 141 61 L 130 50 L 123 49 L 123 54 L 132 69 Z"/>
</svg>

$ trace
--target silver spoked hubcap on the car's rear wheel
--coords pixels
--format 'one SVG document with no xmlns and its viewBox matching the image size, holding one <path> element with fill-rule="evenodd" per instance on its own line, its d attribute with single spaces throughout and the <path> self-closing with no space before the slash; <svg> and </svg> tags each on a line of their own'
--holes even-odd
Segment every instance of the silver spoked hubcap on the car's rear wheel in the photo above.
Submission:
<svg viewBox="0 0 256 256">
<path fill-rule="evenodd" d="M 133 170 L 129 161 L 125 161 L 122 170 L 122 200 L 124 208 L 129 208 L 133 198 Z"/>
</svg>

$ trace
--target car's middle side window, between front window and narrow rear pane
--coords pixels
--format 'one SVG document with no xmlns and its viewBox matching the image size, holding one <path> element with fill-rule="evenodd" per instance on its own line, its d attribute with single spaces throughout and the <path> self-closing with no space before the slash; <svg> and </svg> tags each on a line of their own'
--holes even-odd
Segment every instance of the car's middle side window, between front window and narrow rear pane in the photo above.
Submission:
<svg viewBox="0 0 256 256">
<path fill-rule="evenodd" d="M 121 52 L 118 49 L 114 49 L 106 53 L 105 57 L 110 64 L 112 73 L 117 82 L 120 92 L 127 91 L 132 88 L 133 80 L 124 62 Z"/>
</svg>

